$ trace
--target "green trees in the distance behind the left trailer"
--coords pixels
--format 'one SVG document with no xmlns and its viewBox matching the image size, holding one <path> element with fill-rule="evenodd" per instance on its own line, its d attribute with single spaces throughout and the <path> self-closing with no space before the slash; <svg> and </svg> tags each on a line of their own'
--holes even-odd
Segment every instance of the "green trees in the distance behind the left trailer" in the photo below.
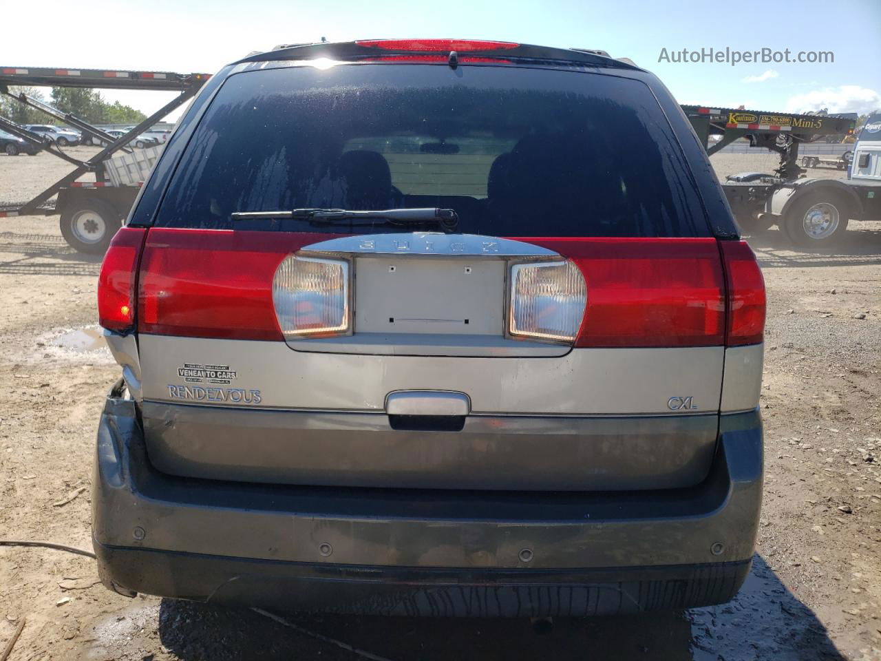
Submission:
<svg viewBox="0 0 881 661">
<path fill-rule="evenodd" d="M 105 100 L 100 92 L 87 88 L 53 87 L 50 100 L 35 87 L 10 87 L 10 93 L 18 96 L 26 93 L 34 99 L 40 100 L 53 106 L 63 113 L 77 115 L 79 119 L 90 124 L 137 124 L 144 121 L 147 115 L 140 110 L 123 106 L 119 101 L 110 103 Z M 0 116 L 17 124 L 57 124 L 60 120 L 41 113 L 34 108 L 28 108 L 17 100 L 8 96 L 0 97 Z"/>
</svg>

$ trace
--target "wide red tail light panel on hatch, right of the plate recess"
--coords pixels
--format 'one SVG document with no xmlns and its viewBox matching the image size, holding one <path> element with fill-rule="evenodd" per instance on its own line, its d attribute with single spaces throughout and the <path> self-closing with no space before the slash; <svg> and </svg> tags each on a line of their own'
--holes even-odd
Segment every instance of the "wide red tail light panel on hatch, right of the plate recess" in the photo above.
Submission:
<svg viewBox="0 0 881 661">
<path fill-rule="evenodd" d="M 725 340 L 715 239 L 520 239 L 578 264 L 588 305 L 575 346 L 714 346 Z"/>
</svg>

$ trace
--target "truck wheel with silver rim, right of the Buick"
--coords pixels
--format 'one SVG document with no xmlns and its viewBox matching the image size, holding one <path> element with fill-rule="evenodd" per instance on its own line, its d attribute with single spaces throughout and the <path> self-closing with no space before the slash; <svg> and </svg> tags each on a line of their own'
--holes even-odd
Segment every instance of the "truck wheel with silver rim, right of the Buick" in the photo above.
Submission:
<svg viewBox="0 0 881 661">
<path fill-rule="evenodd" d="M 783 229 L 801 248 L 833 246 L 848 229 L 850 205 L 839 192 L 815 190 L 789 207 Z"/>
</svg>

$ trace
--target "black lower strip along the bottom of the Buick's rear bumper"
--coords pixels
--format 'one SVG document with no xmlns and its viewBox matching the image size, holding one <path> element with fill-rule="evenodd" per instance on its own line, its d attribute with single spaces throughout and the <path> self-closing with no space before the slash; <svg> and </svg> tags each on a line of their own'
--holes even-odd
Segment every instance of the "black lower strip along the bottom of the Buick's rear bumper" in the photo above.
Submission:
<svg viewBox="0 0 881 661">
<path fill-rule="evenodd" d="M 433 617 L 584 617 L 732 598 L 751 561 L 700 566 L 497 570 L 259 561 L 95 543 L 108 583 L 212 604 Z M 110 585 L 111 589 L 114 588 Z M 206 591 L 210 590 L 210 591 Z"/>
</svg>

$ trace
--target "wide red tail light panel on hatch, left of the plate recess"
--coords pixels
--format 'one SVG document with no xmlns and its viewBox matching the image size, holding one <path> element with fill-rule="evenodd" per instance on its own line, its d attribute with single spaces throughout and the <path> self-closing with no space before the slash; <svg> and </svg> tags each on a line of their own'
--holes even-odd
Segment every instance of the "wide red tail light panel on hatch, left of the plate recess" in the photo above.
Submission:
<svg viewBox="0 0 881 661">
<path fill-rule="evenodd" d="M 196 338 L 284 339 L 272 303 L 278 264 L 333 234 L 152 229 L 137 330 Z"/>
</svg>

